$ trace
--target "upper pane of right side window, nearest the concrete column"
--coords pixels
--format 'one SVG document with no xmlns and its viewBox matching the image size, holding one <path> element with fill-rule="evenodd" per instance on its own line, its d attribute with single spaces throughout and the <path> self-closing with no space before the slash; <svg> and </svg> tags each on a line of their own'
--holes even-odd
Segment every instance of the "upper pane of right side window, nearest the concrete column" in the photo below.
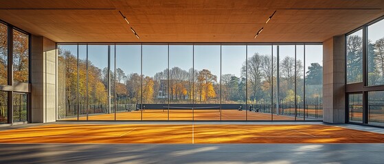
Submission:
<svg viewBox="0 0 384 164">
<path fill-rule="evenodd" d="M 363 82 L 363 30 L 346 37 L 347 83 Z"/>
</svg>

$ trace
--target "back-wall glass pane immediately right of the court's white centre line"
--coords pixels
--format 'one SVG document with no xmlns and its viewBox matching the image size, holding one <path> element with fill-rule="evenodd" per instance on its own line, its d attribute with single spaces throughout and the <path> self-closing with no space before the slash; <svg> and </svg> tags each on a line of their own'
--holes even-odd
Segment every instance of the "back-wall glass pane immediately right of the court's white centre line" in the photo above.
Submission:
<svg viewBox="0 0 384 164">
<path fill-rule="evenodd" d="M 194 46 L 194 120 L 221 120 L 219 45 Z"/>
</svg>

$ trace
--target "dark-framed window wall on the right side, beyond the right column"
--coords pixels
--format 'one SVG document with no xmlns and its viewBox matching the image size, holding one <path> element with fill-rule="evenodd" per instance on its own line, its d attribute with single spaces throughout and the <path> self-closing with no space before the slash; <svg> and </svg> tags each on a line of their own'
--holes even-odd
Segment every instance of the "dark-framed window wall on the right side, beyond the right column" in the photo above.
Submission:
<svg viewBox="0 0 384 164">
<path fill-rule="evenodd" d="M 384 126 L 383 28 L 381 17 L 346 34 L 348 122 Z"/>
</svg>

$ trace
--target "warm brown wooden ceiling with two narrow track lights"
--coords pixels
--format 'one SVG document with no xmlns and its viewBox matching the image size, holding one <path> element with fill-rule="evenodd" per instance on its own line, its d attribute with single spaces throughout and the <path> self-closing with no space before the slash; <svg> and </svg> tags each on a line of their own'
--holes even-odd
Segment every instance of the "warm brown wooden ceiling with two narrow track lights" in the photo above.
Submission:
<svg viewBox="0 0 384 164">
<path fill-rule="evenodd" d="M 383 8 L 384 0 L 12 0 L 0 1 L 0 19 L 55 42 L 323 42 Z"/>
</svg>

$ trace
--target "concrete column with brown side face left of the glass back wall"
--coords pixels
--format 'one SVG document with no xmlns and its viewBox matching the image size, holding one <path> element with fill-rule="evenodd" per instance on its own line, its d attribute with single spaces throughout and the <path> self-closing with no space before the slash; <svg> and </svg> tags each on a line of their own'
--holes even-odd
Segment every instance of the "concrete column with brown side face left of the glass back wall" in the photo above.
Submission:
<svg viewBox="0 0 384 164">
<path fill-rule="evenodd" d="M 56 121 L 56 43 L 32 35 L 31 122 Z"/>
</svg>

